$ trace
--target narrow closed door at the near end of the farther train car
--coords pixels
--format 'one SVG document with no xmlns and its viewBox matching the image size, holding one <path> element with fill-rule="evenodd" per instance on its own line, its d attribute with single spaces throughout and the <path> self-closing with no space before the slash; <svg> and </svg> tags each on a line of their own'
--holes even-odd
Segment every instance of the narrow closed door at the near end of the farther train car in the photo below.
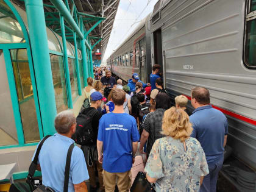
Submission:
<svg viewBox="0 0 256 192">
<path fill-rule="evenodd" d="M 140 40 L 140 79 L 146 83 L 146 42 L 145 38 Z"/>
</svg>

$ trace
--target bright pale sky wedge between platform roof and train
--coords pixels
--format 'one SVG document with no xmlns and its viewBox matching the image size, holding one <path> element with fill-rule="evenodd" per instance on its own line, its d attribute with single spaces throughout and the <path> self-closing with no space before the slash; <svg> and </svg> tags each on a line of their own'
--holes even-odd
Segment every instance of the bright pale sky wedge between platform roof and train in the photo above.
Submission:
<svg viewBox="0 0 256 192">
<path fill-rule="evenodd" d="M 158 0 L 120 0 L 102 64 L 107 63 L 107 59 L 113 53 L 113 50 L 123 43 L 138 26 L 140 20 L 153 11 L 157 1 Z"/>
</svg>

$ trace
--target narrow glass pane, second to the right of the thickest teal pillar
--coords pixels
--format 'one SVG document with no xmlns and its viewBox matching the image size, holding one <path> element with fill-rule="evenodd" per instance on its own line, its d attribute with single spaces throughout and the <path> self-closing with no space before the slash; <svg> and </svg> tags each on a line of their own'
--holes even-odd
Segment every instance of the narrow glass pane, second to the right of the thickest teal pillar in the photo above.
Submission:
<svg viewBox="0 0 256 192">
<path fill-rule="evenodd" d="M 68 68 L 71 84 L 72 101 L 74 101 L 74 99 L 76 99 L 78 96 L 76 65 L 74 59 L 68 58 Z"/>
</svg>

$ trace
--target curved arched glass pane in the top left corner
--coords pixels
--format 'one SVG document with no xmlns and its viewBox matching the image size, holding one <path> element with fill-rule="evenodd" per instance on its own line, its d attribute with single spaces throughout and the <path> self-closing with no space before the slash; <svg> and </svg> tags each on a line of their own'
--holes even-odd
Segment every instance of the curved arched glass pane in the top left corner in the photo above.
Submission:
<svg viewBox="0 0 256 192">
<path fill-rule="evenodd" d="M 0 0 L 0 43 L 21 43 L 24 41 L 20 23 L 8 5 Z"/>
</svg>

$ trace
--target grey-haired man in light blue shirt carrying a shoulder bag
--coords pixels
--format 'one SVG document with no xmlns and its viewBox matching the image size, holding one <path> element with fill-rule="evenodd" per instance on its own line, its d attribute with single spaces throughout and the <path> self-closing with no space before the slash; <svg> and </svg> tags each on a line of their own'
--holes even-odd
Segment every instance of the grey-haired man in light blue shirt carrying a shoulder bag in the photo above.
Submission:
<svg viewBox="0 0 256 192">
<path fill-rule="evenodd" d="M 61 192 L 64 187 L 66 155 L 69 146 L 74 143 L 71 137 L 76 132 L 74 113 L 71 110 L 60 112 L 55 117 L 54 127 L 57 133 L 44 141 L 38 157 L 37 169 L 41 171 L 44 186 Z M 84 153 L 75 146 L 71 156 L 68 192 L 87 191 L 85 184 L 87 179 L 89 176 Z"/>
</svg>

